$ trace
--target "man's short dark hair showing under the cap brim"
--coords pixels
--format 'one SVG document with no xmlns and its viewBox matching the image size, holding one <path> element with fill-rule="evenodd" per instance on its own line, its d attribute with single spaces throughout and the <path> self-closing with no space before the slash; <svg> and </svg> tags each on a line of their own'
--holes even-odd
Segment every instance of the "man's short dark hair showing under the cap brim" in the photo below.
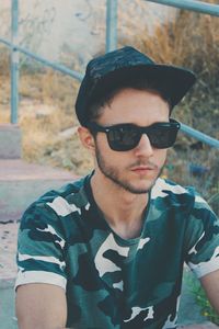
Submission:
<svg viewBox="0 0 219 329">
<path fill-rule="evenodd" d="M 95 122 L 103 112 L 103 107 L 106 104 L 110 104 L 113 98 L 122 90 L 131 88 L 136 90 L 145 90 L 158 93 L 169 105 L 170 113 L 173 110 L 171 100 L 166 99 L 165 93 L 158 86 L 158 81 L 147 80 L 146 77 L 132 77 L 128 81 L 123 81 L 122 84 L 116 84 L 111 87 L 108 90 L 105 90 L 105 93 L 100 94 L 89 104 L 87 112 L 87 122 Z"/>
</svg>

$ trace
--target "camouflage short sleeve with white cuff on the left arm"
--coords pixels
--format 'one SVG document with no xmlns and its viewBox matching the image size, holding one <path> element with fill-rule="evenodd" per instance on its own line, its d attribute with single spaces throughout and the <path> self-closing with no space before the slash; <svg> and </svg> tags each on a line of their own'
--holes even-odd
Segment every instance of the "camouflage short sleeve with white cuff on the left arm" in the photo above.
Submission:
<svg viewBox="0 0 219 329">
<path fill-rule="evenodd" d="M 48 283 L 66 290 L 66 241 L 58 219 L 44 203 L 34 204 L 24 213 L 18 238 L 15 288 L 27 283 Z"/>
</svg>

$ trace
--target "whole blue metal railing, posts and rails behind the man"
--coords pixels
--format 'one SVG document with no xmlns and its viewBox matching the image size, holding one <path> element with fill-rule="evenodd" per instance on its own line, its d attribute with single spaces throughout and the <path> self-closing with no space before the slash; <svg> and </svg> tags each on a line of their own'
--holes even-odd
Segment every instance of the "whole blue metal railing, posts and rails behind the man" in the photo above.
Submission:
<svg viewBox="0 0 219 329">
<path fill-rule="evenodd" d="M 155 2 L 164 5 L 171 5 L 180 9 L 191 10 L 200 12 L 204 14 L 210 14 L 219 16 L 219 5 L 209 4 L 201 1 L 194 0 L 145 0 L 149 2 Z M 106 0 L 106 52 L 114 50 L 117 47 L 117 0 Z M 73 71 L 62 65 L 53 63 L 43 58 L 23 47 L 20 47 L 18 44 L 18 18 L 19 18 L 19 0 L 12 0 L 11 7 L 11 30 L 12 30 L 12 42 L 9 42 L 4 38 L 0 38 L 0 43 L 3 43 L 5 46 L 11 49 L 11 123 L 18 123 L 18 107 L 19 107 L 19 93 L 18 93 L 18 83 L 19 83 L 19 53 L 25 54 L 26 56 L 42 63 L 45 66 L 51 67 L 55 70 L 64 72 L 79 81 L 82 80 L 83 75 L 77 71 Z M 194 137 L 205 144 L 210 145 L 211 147 L 219 149 L 219 140 L 212 138 L 199 131 L 196 131 L 185 124 L 182 124 L 181 131 L 187 134 L 191 137 Z"/>
</svg>

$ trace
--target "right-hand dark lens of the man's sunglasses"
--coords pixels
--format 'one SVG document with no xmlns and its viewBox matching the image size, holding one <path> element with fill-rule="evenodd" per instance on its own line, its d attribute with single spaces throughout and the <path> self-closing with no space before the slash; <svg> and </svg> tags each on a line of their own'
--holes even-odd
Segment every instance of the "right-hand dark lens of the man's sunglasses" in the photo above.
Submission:
<svg viewBox="0 0 219 329">
<path fill-rule="evenodd" d="M 177 127 L 173 125 L 153 126 L 148 133 L 148 137 L 153 147 L 169 148 L 175 143 L 177 131 Z"/>
</svg>

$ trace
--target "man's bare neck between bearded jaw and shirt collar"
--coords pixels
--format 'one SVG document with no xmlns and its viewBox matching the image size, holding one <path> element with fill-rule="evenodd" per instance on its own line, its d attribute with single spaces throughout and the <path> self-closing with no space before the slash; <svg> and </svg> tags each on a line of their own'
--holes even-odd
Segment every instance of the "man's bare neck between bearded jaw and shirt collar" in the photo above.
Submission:
<svg viewBox="0 0 219 329">
<path fill-rule="evenodd" d="M 94 200 L 110 227 L 123 238 L 135 238 L 141 232 L 148 194 L 134 194 L 101 173 L 91 179 Z"/>
</svg>

